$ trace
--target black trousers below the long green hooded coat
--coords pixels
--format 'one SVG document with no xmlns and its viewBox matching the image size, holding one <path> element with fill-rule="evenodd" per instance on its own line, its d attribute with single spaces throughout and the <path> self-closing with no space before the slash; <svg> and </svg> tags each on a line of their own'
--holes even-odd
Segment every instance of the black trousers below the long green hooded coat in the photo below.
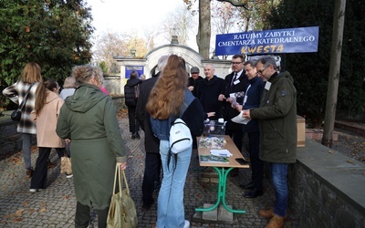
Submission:
<svg viewBox="0 0 365 228">
<path fill-rule="evenodd" d="M 98 212 L 98 227 L 107 227 L 107 219 L 109 207 L 103 210 L 97 210 Z M 90 207 L 88 205 L 83 205 L 80 202 L 76 204 L 76 214 L 75 214 L 75 228 L 86 228 L 89 226 L 90 221 Z"/>
</svg>

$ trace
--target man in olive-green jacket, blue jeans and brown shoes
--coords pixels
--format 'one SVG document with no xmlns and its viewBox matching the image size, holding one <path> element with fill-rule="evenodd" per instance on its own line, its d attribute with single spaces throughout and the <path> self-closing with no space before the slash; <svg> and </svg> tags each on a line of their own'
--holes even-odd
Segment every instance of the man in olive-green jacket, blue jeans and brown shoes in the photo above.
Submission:
<svg viewBox="0 0 365 228">
<path fill-rule="evenodd" d="M 266 85 L 260 108 L 246 109 L 243 117 L 258 119 L 260 128 L 260 159 L 270 165 L 275 186 L 275 207 L 258 214 L 271 219 L 267 227 L 283 227 L 287 213 L 287 166 L 297 161 L 297 90 L 293 78 L 285 71 L 276 72 L 274 57 L 262 57 L 256 70 Z"/>
</svg>

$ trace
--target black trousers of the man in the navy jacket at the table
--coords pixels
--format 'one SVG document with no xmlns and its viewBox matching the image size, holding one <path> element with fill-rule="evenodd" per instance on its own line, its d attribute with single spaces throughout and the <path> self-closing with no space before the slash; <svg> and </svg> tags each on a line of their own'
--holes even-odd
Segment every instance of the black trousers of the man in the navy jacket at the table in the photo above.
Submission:
<svg viewBox="0 0 365 228">
<path fill-rule="evenodd" d="M 260 132 L 248 132 L 248 153 L 250 154 L 251 169 L 252 169 L 252 181 L 254 182 L 255 189 L 263 191 L 263 178 L 264 178 L 264 161 L 259 157 L 260 146 Z"/>
</svg>

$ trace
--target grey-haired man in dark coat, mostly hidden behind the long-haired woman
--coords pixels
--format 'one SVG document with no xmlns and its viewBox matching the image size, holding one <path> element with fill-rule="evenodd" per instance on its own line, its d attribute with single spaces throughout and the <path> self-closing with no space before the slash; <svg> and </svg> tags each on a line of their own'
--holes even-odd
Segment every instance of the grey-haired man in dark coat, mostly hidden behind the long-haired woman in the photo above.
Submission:
<svg viewBox="0 0 365 228">
<path fill-rule="evenodd" d="M 150 114 L 146 110 L 146 105 L 150 98 L 151 89 L 157 81 L 157 78 L 165 67 L 169 56 L 162 56 L 158 61 L 159 73 L 153 78 L 149 78 L 140 86 L 140 97 L 137 101 L 136 116 L 141 123 L 141 129 L 144 131 L 144 148 L 146 150 L 145 168 L 142 182 L 142 209 L 149 210 L 154 202 L 152 193 L 155 185 L 160 184 L 161 173 L 161 156 L 160 140 L 158 140 L 151 130 Z"/>
</svg>

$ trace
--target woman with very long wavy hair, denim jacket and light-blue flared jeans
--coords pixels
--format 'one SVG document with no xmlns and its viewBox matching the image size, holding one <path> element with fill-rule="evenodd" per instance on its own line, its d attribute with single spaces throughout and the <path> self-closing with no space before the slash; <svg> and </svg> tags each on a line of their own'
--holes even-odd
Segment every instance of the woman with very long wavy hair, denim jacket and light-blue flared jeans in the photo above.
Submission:
<svg viewBox="0 0 365 228">
<path fill-rule="evenodd" d="M 203 107 L 186 87 L 187 82 L 188 73 L 183 57 L 170 56 L 162 75 L 151 90 L 146 106 L 151 115 L 151 129 L 160 140 L 163 170 L 157 207 L 158 228 L 190 227 L 183 209 L 183 186 L 192 157 L 192 147 L 180 152 L 176 161 L 169 152 L 170 128 L 175 119 L 183 119 L 193 137 L 203 133 Z"/>
</svg>

